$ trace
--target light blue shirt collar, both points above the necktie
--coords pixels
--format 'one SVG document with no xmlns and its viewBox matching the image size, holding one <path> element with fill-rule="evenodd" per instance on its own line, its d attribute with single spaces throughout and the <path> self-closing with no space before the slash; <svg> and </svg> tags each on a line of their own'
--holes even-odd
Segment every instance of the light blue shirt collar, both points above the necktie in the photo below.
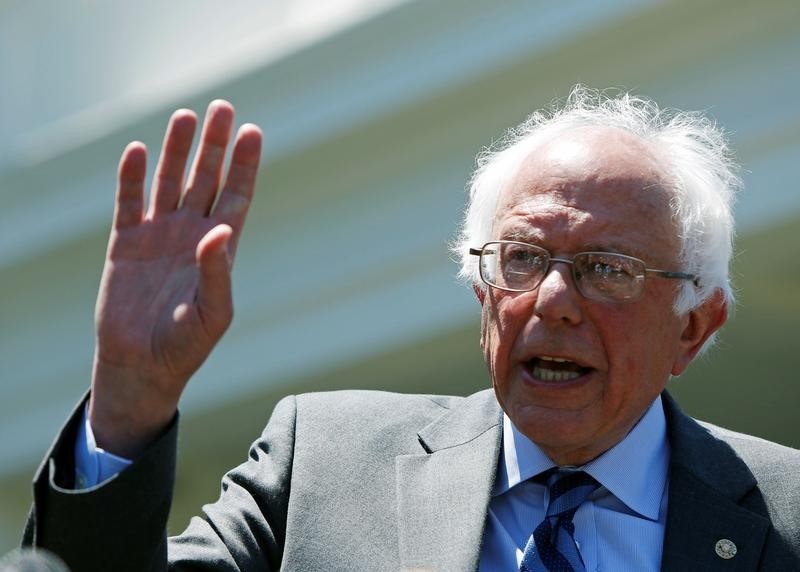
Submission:
<svg viewBox="0 0 800 572">
<path fill-rule="evenodd" d="M 503 414 L 501 461 L 492 492 L 494 496 L 555 466 L 506 414 Z M 658 396 L 622 441 L 582 469 L 628 508 L 658 520 L 668 465 L 667 424 L 661 396 Z"/>
</svg>

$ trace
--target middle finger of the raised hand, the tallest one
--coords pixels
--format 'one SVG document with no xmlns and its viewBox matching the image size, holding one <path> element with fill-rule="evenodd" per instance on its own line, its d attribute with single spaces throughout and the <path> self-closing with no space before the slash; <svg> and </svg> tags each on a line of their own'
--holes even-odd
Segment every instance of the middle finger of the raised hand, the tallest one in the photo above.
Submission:
<svg viewBox="0 0 800 572">
<path fill-rule="evenodd" d="M 225 149 L 233 128 L 233 106 L 227 101 L 212 101 L 203 123 L 200 148 L 189 174 L 183 206 L 207 214 L 222 178 Z"/>
</svg>

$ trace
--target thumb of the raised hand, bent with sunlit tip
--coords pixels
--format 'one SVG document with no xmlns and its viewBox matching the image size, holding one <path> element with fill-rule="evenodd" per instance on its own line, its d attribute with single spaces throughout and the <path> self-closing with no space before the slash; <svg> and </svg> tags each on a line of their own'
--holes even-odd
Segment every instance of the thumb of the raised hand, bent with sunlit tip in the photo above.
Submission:
<svg viewBox="0 0 800 572">
<path fill-rule="evenodd" d="M 211 339 L 221 337 L 233 318 L 228 257 L 228 241 L 232 234 L 228 225 L 215 226 L 200 240 L 195 253 L 200 270 L 197 312 Z"/>
</svg>

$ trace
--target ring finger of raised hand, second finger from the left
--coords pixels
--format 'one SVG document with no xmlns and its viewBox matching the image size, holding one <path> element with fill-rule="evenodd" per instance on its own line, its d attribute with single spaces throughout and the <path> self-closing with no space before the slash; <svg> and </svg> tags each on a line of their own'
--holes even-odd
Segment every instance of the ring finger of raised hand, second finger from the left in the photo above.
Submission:
<svg viewBox="0 0 800 572">
<path fill-rule="evenodd" d="M 194 111 L 179 109 L 172 114 L 153 179 L 150 216 L 158 216 L 178 208 L 183 189 L 183 173 L 196 127 L 197 116 Z"/>
</svg>

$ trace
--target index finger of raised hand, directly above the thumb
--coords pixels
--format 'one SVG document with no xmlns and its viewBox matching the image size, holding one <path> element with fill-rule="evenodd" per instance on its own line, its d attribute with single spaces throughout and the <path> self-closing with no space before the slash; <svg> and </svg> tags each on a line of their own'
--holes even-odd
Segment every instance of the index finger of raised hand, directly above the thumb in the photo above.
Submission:
<svg viewBox="0 0 800 572">
<path fill-rule="evenodd" d="M 261 160 L 261 140 L 261 129 L 257 125 L 248 123 L 239 128 L 228 178 L 214 208 L 214 216 L 233 229 L 228 249 L 231 257 L 236 251 L 236 243 L 253 200 L 258 163 Z"/>
</svg>

